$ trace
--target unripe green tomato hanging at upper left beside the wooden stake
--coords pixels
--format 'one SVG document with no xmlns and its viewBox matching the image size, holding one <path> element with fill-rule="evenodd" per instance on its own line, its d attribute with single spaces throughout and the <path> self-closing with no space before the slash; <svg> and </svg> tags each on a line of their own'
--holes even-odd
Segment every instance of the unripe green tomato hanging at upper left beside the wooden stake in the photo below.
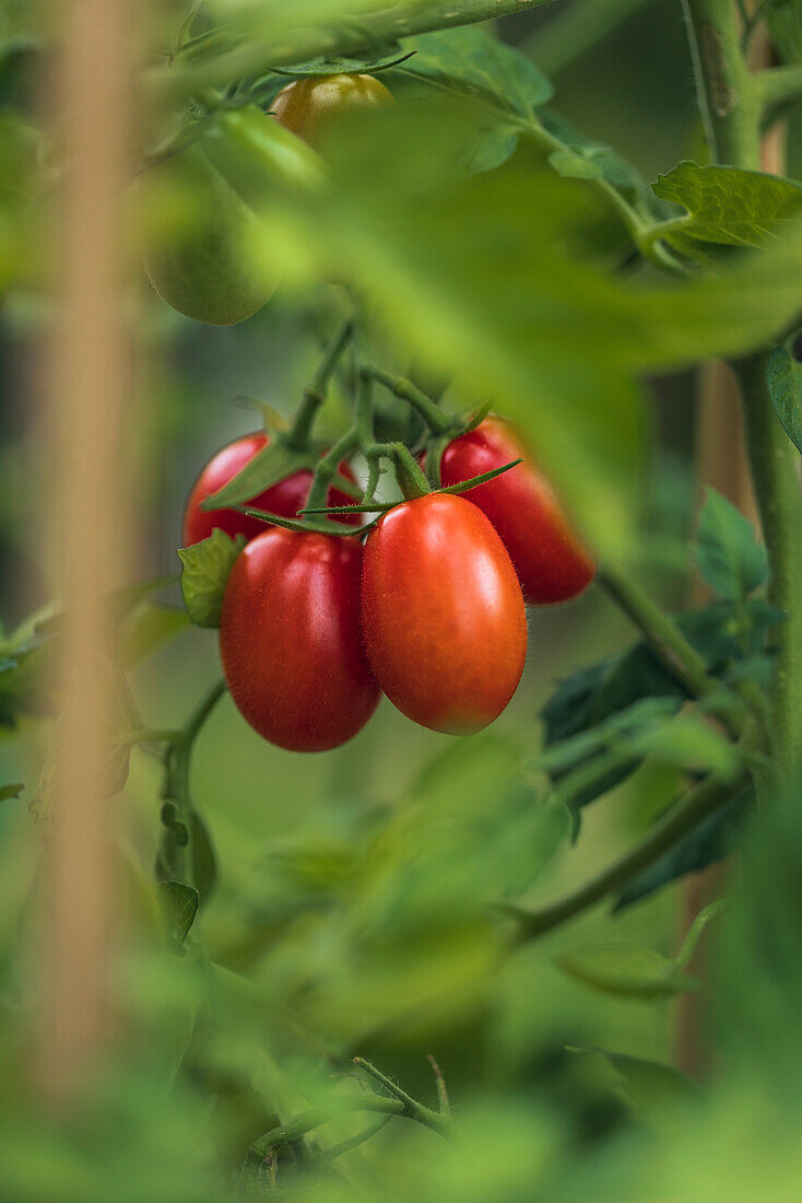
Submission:
<svg viewBox="0 0 802 1203">
<path fill-rule="evenodd" d="M 141 186 L 173 189 L 189 205 L 186 221 L 143 256 L 148 279 L 173 309 L 212 326 L 232 326 L 269 301 L 278 279 L 254 254 L 259 218 L 198 146 L 150 168 Z"/>
</svg>

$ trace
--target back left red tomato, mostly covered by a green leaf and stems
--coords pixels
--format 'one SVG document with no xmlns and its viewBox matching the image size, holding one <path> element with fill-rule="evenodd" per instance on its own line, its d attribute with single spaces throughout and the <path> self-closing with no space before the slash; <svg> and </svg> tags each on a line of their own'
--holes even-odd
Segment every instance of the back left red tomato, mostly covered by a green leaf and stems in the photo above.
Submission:
<svg viewBox="0 0 802 1203">
<path fill-rule="evenodd" d="M 207 463 L 200 476 L 192 485 L 192 491 L 184 509 L 183 546 L 190 547 L 194 543 L 208 539 L 212 532 L 218 528 L 225 531 L 233 539 L 238 534 L 244 534 L 248 540 L 255 539 L 265 531 L 265 523 L 259 518 L 249 518 L 246 514 L 237 510 L 202 510 L 201 502 L 216 493 L 219 488 L 227 485 L 230 480 L 240 472 L 249 460 L 266 448 L 269 443 L 267 434 L 245 434 L 242 439 L 236 439 L 222 448 Z M 354 480 L 354 474 L 347 464 L 340 464 L 340 473 L 346 480 Z M 271 485 L 263 493 L 250 499 L 249 504 L 260 510 L 269 510 L 279 517 L 293 518 L 298 510 L 303 508 L 311 485 L 311 472 L 308 468 L 292 473 L 278 484 Z M 329 488 L 328 505 L 352 505 L 354 498 L 341 493 L 338 488 Z M 349 526 L 358 526 L 360 517 L 350 515 L 343 518 Z"/>
</svg>

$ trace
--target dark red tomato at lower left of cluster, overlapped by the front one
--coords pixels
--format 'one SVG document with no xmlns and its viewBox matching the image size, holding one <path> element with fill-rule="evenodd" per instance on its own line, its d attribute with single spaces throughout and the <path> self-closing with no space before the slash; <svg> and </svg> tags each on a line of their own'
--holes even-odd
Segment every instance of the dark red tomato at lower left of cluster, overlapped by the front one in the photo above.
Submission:
<svg viewBox="0 0 802 1203">
<path fill-rule="evenodd" d="M 360 638 L 362 545 L 277 527 L 234 561 L 220 658 L 242 716 L 271 743 L 326 752 L 364 727 L 380 692 Z"/>
</svg>

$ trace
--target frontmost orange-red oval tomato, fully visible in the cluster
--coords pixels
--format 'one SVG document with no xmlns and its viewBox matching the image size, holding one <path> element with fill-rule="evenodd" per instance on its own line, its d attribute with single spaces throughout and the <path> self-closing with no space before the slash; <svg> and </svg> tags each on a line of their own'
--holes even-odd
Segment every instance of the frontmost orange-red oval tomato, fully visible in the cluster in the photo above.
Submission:
<svg viewBox="0 0 802 1203">
<path fill-rule="evenodd" d="M 492 523 L 462 497 L 404 502 L 368 535 L 362 632 L 370 666 L 408 718 L 470 735 L 515 693 L 527 614 Z"/>
</svg>

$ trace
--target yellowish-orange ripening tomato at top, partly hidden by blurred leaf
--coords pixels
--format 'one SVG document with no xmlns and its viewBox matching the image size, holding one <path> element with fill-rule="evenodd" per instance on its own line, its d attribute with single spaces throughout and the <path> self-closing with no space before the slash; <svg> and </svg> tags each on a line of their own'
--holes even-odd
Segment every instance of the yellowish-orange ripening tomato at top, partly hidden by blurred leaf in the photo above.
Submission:
<svg viewBox="0 0 802 1203">
<path fill-rule="evenodd" d="M 391 101 L 392 93 L 374 76 L 334 75 L 296 79 L 271 108 L 285 129 L 316 146 L 332 118 Z"/>
</svg>

